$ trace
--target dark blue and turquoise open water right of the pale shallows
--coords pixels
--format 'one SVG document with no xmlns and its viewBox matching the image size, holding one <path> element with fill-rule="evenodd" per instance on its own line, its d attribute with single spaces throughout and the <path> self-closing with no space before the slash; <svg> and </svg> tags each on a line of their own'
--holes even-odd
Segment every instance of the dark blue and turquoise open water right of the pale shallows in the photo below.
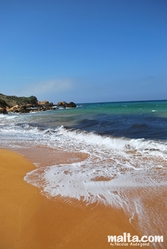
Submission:
<svg viewBox="0 0 167 249">
<path fill-rule="evenodd" d="M 64 125 L 68 128 L 115 137 L 167 139 L 167 101 L 93 103 L 67 111 Z"/>
</svg>

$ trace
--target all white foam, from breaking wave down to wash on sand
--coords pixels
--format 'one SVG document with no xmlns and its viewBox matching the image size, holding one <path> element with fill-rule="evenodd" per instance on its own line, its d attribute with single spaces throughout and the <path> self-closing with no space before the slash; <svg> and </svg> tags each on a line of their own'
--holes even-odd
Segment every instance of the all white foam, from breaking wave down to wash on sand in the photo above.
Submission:
<svg viewBox="0 0 167 249">
<path fill-rule="evenodd" d="M 165 184 L 165 175 L 153 178 L 156 173 L 152 176 L 152 172 L 158 170 L 160 173 L 167 167 L 166 141 L 105 137 L 92 132 L 68 130 L 63 126 L 40 129 L 31 124 L 16 125 L 15 122 L 1 126 L 0 131 L 4 146 L 6 143 L 8 146 L 10 143 L 11 147 L 43 145 L 90 155 L 81 163 L 48 165 L 42 175 L 38 169 L 27 174 L 26 181 L 42 188 L 48 196 L 118 204 L 121 203 L 120 200 L 118 202 L 120 195 L 112 192 L 118 191 L 118 187 Z M 42 186 L 39 186 L 41 178 Z"/>
</svg>

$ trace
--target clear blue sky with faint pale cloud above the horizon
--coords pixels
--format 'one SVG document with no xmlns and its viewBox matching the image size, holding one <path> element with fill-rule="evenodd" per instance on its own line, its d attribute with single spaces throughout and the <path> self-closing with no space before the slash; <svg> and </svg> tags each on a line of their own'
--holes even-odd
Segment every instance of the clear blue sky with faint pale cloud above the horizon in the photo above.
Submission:
<svg viewBox="0 0 167 249">
<path fill-rule="evenodd" d="M 0 92 L 167 99 L 166 0 L 0 0 Z"/>
</svg>

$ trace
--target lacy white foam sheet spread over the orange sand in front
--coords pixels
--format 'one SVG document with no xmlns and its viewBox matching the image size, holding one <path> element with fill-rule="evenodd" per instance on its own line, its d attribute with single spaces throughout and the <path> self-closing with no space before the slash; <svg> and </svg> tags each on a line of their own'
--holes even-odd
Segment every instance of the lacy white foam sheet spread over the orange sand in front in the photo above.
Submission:
<svg viewBox="0 0 167 249">
<path fill-rule="evenodd" d="M 25 180 L 39 187 L 48 197 L 70 197 L 87 203 L 99 202 L 121 207 L 127 205 L 124 203 L 127 196 L 123 195 L 123 189 L 154 187 L 157 183 L 148 172 L 126 172 L 120 175 L 119 169 L 112 166 L 101 168 L 100 165 L 93 166 L 88 162 L 49 166 L 43 172 L 36 169 L 28 173 Z M 165 179 L 161 179 L 161 185 L 167 185 Z"/>
</svg>

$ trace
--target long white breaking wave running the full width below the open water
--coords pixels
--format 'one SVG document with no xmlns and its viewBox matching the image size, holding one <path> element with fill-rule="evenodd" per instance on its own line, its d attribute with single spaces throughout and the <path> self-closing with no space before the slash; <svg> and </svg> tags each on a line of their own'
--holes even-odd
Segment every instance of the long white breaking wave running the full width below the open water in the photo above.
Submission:
<svg viewBox="0 0 167 249">
<path fill-rule="evenodd" d="M 1 122 L 2 124 L 2 122 Z M 55 129 L 40 129 L 30 124 L 1 125 L 0 130 L 4 136 L 12 140 L 20 138 L 23 143 L 28 139 L 32 144 L 48 146 L 51 148 L 61 147 L 65 150 L 76 150 L 87 153 L 95 153 L 98 157 L 116 156 L 131 157 L 132 155 L 156 156 L 167 159 L 167 142 L 146 139 L 128 139 L 101 136 L 93 132 L 68 130 L 63 126 Z M 128 154 L 128 153 L 129 154 Z M 108 156 L 107 156 L 108 155 Z"/>
</svg>

